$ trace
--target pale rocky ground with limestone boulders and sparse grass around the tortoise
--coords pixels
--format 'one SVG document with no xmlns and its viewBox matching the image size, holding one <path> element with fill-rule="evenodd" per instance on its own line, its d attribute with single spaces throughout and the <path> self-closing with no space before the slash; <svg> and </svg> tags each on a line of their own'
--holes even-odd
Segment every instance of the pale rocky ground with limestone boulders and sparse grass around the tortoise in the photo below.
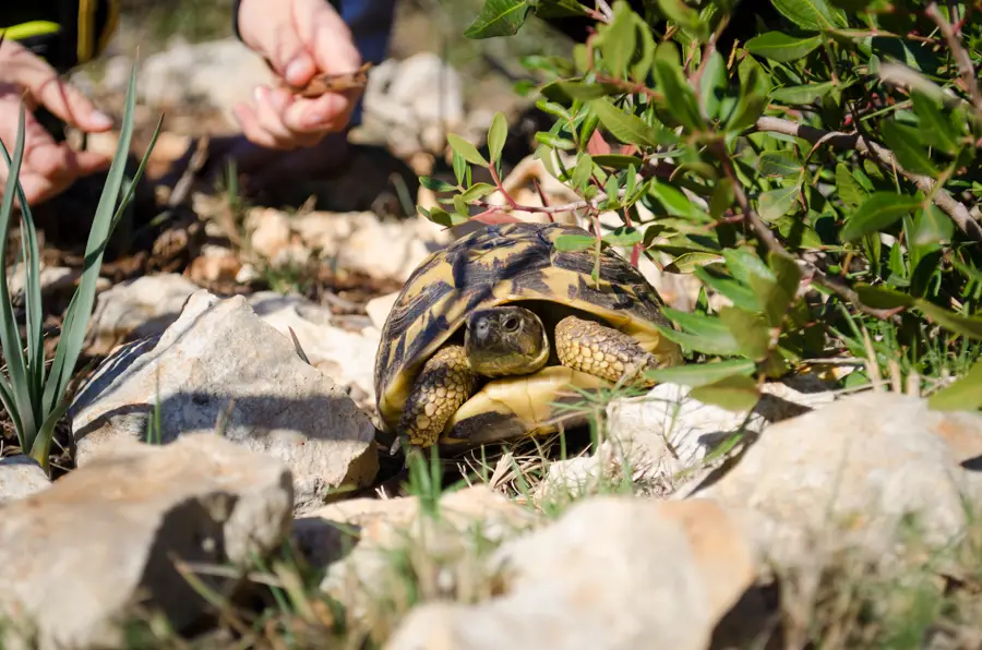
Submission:
<svg viewBox="0 0 982 650">
<path fill-rule="evenodd" d="M 254 63 L 229 40 L 143 63 L 144 129 L 185 112 L 104 269 L 56 480 L 4 438 L 3 648 L 982 647 L 982 416 L 918 395 L 802 376 L 731 412 L 666 384 L 592 405 L 599 442 L 566 458 L 546 441 L 407 474 L 375 428 L 380 329 L 460 234 L 415 216 L 417 174 L 491 115 L 435 55 L 388 61 L 347 180 L 244 200 L 187 166 Z M 128 64 L 93 92 L 118 97 Z M 502 108 L 513 195 L 562 201 Z M 61 228 L 52 328 L 84 241 Z M 643 272 L 691 306 L 685 276 Z"/>
</svg>

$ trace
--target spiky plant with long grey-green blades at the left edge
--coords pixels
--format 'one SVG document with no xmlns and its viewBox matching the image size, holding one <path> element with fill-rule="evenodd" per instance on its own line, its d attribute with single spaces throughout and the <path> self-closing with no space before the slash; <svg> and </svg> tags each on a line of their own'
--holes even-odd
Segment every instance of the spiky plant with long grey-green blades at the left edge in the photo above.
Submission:
<svg viewBox="0 0 982 650">
<path fill-rule="evenodd" d="M 116 156 L 109 167 L 85 246 L 82 280 L 64 313 L 61 337 L 58 340 L 50 372 L 47 371 L 45 363 L 40 251 L 38 250 L 37 230 L 19 178 L 24 154 L 25 112 L 23 105 L 12 157 L 7 147 L 0 143 L 3 158 L 10 168 L 3 201 L 0 204 L 0 233 L 2 233 L 2 242 L 0 242 L 0 280 L 2 280 L 0 281 L 0 347 L 2 347 L 3 359 L 7 362 L 7 372 L 0 373 L 0 401 L 3 402 L 3 408 L 10 414 L 22 452 L 37 460 L 45 471 L 50 470 L 48 454 L 55 425 L 70 405 L 68 387 L 75 371 L 75 363 L 82 352 L 85 333 L 92 316 L 96 280 L 98 280 L 106 244 L 132 198 L 133 190 L 143 174 L 160 130 L 158 122 L 135 176 L 127 179 L 124 169 L 130 151 L 130 139 L 133 134 L 135 86 L 136 68 L 134 65 L 127 88 L 127 104 Z M 21 341 L 7 276 L 7 244 L 13 221 L 15 195 L 20 198 L 21 204 L 21 256 L 24 261 L 25 277 L 26 348 Z"/>
</svg>

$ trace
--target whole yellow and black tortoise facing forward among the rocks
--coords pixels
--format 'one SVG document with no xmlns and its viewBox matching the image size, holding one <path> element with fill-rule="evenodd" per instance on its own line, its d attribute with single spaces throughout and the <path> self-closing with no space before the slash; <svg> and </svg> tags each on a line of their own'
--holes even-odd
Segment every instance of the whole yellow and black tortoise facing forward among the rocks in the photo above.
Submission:
<svg viewBox="0 0 982 650">
<path fill-rule="evenodd" d="M 482 226 L 414 270 L 382 327 L 375 399 L 409 448 L 466 449 L 564 431 L 556 404 L 681 362 L 656 289 L 602 249 L 563 251 L 561 224 Z M 565 426 L 582 422 L 570 418 Z"/>
</svg>

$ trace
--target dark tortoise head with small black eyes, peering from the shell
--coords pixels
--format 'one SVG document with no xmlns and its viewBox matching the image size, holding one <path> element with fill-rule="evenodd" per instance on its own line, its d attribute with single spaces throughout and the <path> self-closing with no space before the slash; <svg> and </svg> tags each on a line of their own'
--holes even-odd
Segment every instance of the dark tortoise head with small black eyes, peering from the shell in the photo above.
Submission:
<svg viewBox="0 0 982 650">
<path fill-rule="evenodd" d="M 549 360 L 549 338 L 535 312 L 516 305 L 475 310 L 467 320 L 464 349 L 486 377 L 530 374 Z"/>
</svg>

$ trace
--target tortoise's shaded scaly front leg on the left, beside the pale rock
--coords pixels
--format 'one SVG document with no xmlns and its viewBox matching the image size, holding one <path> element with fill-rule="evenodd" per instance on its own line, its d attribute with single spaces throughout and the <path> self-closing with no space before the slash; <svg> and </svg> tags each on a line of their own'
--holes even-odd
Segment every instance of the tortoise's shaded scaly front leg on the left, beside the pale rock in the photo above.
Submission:
<svg viewBox="0 0 982 650">
<path fill-rule="evenodd" d="M 435 444 L 453 414 L 474 395 L 477 374 L 463 346 L 443 348 L 423 365 L 412 384 L 398 434 L 411 447 L 424 448 Z"/>
</svg>

